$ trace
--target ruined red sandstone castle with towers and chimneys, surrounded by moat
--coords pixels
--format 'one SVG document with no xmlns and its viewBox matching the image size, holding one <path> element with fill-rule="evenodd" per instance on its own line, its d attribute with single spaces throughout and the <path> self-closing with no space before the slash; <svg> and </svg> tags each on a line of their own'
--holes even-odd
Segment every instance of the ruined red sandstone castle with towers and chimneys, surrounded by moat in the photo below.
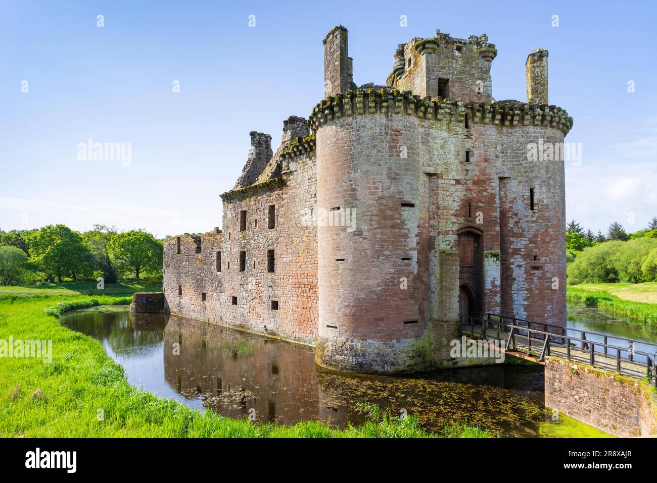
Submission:
<svg viewBox="0 0 657 483">
<path fill-rule="evenodd" d="M 326 368 L 398 373 L 449 356 L 459 317 L 565 325 L 564 165 L 572 118 L 548 104 L 547 51 L 527 102 L 495 101 L 486 35 L 399 45 L 386 85 L 353 83 L 348 32 L 324 39 L 325 99 L 250 133 L 222 229 L 164 245 L 166 310 L 314 345 Z"/>
</svg>

